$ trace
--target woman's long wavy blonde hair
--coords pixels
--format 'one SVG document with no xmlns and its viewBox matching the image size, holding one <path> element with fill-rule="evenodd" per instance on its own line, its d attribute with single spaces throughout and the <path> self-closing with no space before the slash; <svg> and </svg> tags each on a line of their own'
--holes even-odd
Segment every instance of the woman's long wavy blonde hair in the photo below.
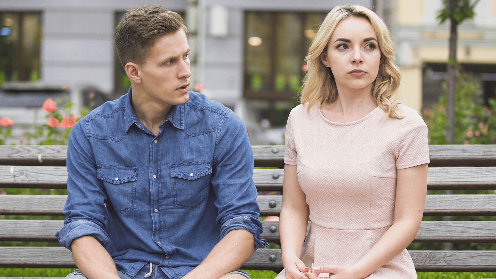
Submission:
<svg viewBox="0 0 496 279">
<path fill-rule="evenodd" d="M 313 105 L 322 102 L 334 102 L 338 96 L 336 81 L 331 70 L 322 65 L 320 58 L 327 48 L 334 29 L 338 23 L 348 17 L 364 17 L 370 21 L 377 35 L 377 43 L 381 53 L 379 71 L 372 83 L 372 94 L 377 105 L 382 108 L 386 116 L 402 119 L 396 113 L 396 90 L 400 84 L 401 74 L 394 61 L 394 45 L 389 36 L 389 31 L 382 21 L 372 10 L 360 5 L 338 5 L 334 7 L 325 17 L 313 39 L 309 54 L 306 57 L 307 75 L 303 84 L 301 103 L 309 103 L 307 112 Z"/>
</svg>

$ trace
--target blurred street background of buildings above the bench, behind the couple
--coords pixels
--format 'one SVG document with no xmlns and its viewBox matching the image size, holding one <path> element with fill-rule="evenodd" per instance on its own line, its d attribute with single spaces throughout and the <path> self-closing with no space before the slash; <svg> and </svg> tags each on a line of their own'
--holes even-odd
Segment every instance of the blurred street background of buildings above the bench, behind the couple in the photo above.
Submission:
<svg viewBox="0 0 496 279">
<path fill-rule="evenodd" d="M 126 93 L 130 83 L 116 55 L 114 28 L 127 8 L 159 4 L 180 13 L 190 31 L 190 89 L 233 109 L 252 144 L 282 144 L 315 31 L 332 7 L 348 3 L 384 19 L 402 69 L 399 99 L 432 126 L 432 108 L 442 106 L 447 77 L 449 20 L 436 19 L 442 0 L 1 0 L 0 117 L 15 124 L 3 125 L 11 131 L 0 136 L 5 143 L 34 140 L 37 127 L 47 123 L 41 110 L 47 98 L 62 103 L 68 118 Z M 480 0 L 474 11 L 458 28 L 458 63 L 469 73 L 468 98 L 492 113 L 496 0 Z M 479 124 L 472 132 L 491 134 L 491 127 L 477 129 Z M 430 127 L 439 134 L 431 143 L 444 143 L 445 132 L 437 130 Z M 463 127 L 455 143 L 477 143 L 468 131 Z M 494 140 L 489 135 L 486 143 Z"/>
</svg>

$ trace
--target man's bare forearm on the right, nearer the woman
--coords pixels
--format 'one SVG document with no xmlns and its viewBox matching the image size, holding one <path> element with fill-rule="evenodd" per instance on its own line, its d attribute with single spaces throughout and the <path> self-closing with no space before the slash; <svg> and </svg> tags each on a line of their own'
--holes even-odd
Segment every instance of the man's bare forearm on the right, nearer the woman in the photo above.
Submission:
<svg viewBox="0 0 496 279">
<path fill-rule="evenodd" d="M 253 254 L 255 240 L 245 229 L 232 230 L 214 246 L 207 257 L 183 279 L 218 279 L 235 271 Z"/>
</svg>

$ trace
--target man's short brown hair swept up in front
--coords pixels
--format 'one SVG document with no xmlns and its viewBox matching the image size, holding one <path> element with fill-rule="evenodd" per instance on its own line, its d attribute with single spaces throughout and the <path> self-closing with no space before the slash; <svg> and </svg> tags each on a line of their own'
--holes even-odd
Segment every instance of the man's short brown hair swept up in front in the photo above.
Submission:
<svg viewBox="0 0 496 279">
<path fill-rule="evenodd" d="M 183 18 L 158 5 L 140 6 L 126 11 L 116 27 L 114 43 L 123 67 L 128 63 L 144 64 L 150 47 L 163 35 L 183 29 Z"/>
</svg>

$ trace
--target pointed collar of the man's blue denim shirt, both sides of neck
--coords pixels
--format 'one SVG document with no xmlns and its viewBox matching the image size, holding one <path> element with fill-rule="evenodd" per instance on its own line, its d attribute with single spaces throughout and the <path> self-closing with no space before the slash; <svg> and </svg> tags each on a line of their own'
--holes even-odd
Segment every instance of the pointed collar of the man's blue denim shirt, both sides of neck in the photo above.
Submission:
<svg viewBox="0 0 496 279">
<path fill-rule="evenodd" d="M 140 125 L 143 125 L 141 124 L 141 121 L 138 120 L 138 117 L 136 116 L 134 110 L 132 109 L 131 96 L 132 96 L 132 89 L 131 87 L 129 87 L 127 94 L 124 94 L 124 96 L 121 97 L 122 102 L 124 102 L 124 122 L 126 123 L 125 125 L 126 132 L 129 130 L 129 127 L 131 127 L 132 124 L 135 124 L 138 127 Z M 169 114 L 169 116 L 165 121 L 169 121 L 174 127 L 184 130 L 185 107 L 186 107 L 185 104 L 172 106 L 171 113 Z"/>
</svg>

